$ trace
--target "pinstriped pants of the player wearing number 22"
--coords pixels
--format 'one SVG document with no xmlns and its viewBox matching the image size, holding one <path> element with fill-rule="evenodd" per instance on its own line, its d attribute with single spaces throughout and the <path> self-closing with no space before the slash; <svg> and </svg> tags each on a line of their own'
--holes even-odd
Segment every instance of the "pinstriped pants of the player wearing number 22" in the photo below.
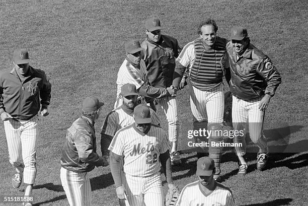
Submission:
<svg viewBox="0 0 308 206">
<path fill-rule="evenodd" d="M 148 177 L 125 174 L 122 180 L 130 206 L 164 206 L 160 173 Z"/>
</svg>

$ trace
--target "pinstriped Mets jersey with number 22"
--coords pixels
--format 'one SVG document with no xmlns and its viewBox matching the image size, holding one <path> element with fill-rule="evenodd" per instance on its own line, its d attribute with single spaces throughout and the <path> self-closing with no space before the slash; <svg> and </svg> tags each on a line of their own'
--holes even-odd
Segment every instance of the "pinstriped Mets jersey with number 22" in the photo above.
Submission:
<svg viewBox="0 0 308 206">
<path fill-rule="evenodd" d="M 151 124 L 145 134 L 135 124 L 120 129 L 108 148 L 116 155 L 124 155 L 124 172 L 146 177 L 160 171 L 160 154 L 169 150 L 169 141 L 163 128 Z"/>
</svg>

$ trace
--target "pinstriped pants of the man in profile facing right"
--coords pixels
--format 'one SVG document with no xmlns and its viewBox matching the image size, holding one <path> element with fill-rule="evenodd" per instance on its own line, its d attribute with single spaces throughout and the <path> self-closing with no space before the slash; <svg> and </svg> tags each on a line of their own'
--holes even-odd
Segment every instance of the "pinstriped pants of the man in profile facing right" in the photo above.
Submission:
<svg viewBox="0 0 308 206">
<path fill-rule="evenodd" d="M 91 184 L 88 172 L 73 172 L 61 167 L 60 178 L 70 206 L 91 205 Z"/>
</svg>

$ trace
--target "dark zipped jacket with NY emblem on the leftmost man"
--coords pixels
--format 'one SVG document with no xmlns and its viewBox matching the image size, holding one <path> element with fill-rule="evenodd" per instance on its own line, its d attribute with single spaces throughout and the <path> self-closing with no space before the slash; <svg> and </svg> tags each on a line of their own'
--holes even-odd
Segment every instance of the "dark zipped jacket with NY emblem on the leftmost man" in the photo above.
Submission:
<svg viewBox="0 0 308 206">
<path fill-rule="evenodd" d="M 38 113 L 40 103 L 47 108 L 51 84 L 44 71 L 29 66 L 28 74 L 21 82 L 15 68 L 0 72 L 0 114 L 7 112 L 15 119 L 27 120 Z"/>
</svg>

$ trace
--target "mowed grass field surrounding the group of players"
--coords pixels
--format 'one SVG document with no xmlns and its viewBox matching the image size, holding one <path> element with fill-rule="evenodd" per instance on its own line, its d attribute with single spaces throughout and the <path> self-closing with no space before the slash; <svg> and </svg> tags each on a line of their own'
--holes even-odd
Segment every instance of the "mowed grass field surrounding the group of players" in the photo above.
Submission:
<svg viewBox="0 0 308 206">
<path fill-rule="evenodd" d="M 222 37 L 228 37 L 234 25 L 248 29 L 252 43 L 271 57 L 282 76 L 282 84 L 265 117 L 270 149 L 276 153 L 271 154 L 268 168 L 263 172 L 255 170 L 256 154 L 249 153 L 249 173 L 238 177 L 236 156 L 226 151 L 221 164 L 223 184 L 233 190 L 237 205 L 307 205 L 306 9 L 304 0 L 1 1 L 2 70 L 13 66 L 15 48 L 27 47 L 31 65 L 46 71 L 52 83 L 50 115 L 40 118 L 34 205 L 68 205 L 60 182 L 59 163 L 65 130 L 79 117 L 81 102 L 87 96 L 95 95 L 105 102 L 103 117 L 113 109 L 117 72 L 125 57 L 124 43 L 145 38 L 144 21 L 150 16 L 158 16 L 162 32 L 176 37 L 181 46 L 198 37 L 196 27 L 208 17 L 216 20 L 217 34 Z M 182 189 L 197 180 L 197 158 L 187 147 L 187 132 L 192 129 L 188 87 L 177 98 L 183 165 L 173 167 L 173 177 Z M 167 129 L 160 109 L 159 114 Z M 100 155 L 103 117 L 95 125 Z M 284 144 L 277 146 L 280 140 Z M 0 145 L 0 194 L 23 195 L 23 186 L 17 190 L 11 186 L 14 170 L 8 161 L 3 124 Z M 93 205 L 117 205 L 109 166 L 96 168 L 90 174 Z M 164 190 L 167 190 L 165 181 Z M 7 203 L 1 199 L 0 205 Z"/>
</svg>

